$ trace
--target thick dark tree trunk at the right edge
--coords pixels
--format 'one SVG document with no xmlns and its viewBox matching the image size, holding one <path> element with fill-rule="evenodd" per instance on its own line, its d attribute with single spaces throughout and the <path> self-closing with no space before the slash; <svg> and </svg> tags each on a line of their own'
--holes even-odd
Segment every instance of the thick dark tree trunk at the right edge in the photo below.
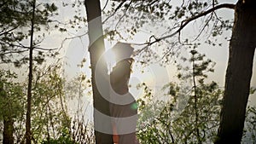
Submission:
<svg viewBox="0 0 256 144">
<path fill-rule="evenodd" d="M 241 143 L 256 46 L 255 8 L 254 0 L 239 0 L 236 3 L 216 144 Z"/>
</svg>

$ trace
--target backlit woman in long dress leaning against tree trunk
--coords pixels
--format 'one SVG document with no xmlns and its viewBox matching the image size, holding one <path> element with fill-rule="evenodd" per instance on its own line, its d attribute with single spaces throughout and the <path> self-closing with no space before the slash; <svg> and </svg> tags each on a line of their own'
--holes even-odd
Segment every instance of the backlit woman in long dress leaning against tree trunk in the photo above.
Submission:
<svg viewBox="0 0 256 144">
<path fill-rule="evenodd" d="M 110 114 L 113 124 L 113 141 L 118 144 L 137 144 L 137 102 L 129 92 L 133 48 L 127 43 L 113 47 L 117 64 L 110 73 Z"/>
</svg>

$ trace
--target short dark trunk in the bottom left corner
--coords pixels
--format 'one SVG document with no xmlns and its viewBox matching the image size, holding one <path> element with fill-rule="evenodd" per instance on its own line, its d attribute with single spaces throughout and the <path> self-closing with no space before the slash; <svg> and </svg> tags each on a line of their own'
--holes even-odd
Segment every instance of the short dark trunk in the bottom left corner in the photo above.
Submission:
<svg viewBox="0 0 256 144">
<path fill-rule="evenodd" d="M 3 144 L 14 144 L 14 120 L 11 117 L 3 118 Z"/>
</svg>

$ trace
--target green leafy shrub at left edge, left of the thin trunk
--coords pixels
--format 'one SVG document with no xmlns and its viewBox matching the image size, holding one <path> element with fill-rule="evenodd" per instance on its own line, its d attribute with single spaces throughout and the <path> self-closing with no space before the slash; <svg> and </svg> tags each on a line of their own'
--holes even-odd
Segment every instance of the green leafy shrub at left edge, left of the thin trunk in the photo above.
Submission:
<svg viewBox="0 0 256 144">
<path fill-rule="evenodd" d="M 17 126 L 14 129 L 13 124 L 23 118 L 25 112 L 24 85 L 17 83 L 18 78 L 15 72 L 0 69 L 0 122 L 8 121 L 5 127 L 9 127 L 8 134 L 5 133 L 5 138 L 13 135 L 21 139 L 20 133 L 17 132 L 22 128 Z M 2 129 L 0 130 L 2 131 Z M 11 138 L 13 140 L 13 138 Z"/>
</svg>

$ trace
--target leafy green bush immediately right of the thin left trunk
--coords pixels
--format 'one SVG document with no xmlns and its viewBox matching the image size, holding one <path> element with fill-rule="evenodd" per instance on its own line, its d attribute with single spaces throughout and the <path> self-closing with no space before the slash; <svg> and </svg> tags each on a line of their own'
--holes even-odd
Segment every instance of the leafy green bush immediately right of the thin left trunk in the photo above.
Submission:
<svg viewBox="0 0 256 144">
<path fill-rule="evenodd" d="M 71 128 L 60 68 L 61 66 L 56 65 L 42 69 L 35 67 L 34 70 L 32 134 L 36 141 L 42 141 L 51 136 L 55 139 L 65 134 L 64 128 L 67 130 Z"/>
</svg>

